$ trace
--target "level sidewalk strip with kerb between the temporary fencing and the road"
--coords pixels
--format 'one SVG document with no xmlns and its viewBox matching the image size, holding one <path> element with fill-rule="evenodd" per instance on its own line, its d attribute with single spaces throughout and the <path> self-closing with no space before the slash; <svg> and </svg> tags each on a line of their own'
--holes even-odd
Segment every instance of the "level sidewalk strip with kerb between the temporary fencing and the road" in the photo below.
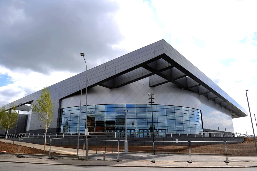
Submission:
<svg viewBox="0 0 257 171">
<path fill-rule="evenodd" d="M 73 166 L 111 166 L 111 167 L 155 167 L 155 168 L 234 168 L 234 167 L 257 167 L 256 162 L 155 162 L 151 161 L 103 161 L 103 160 L 74 160 L 67 158 L 17 158 L 14 155 L 0 155 L 0 162 L 73 165 Z"/>
</svg>

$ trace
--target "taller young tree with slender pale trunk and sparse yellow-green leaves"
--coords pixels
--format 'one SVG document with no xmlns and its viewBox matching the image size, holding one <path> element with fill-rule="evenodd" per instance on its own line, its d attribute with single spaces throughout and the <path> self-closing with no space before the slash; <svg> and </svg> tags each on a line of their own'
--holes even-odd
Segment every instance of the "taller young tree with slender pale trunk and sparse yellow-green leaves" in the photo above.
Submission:
<svg viewBox="0 0 257 171">
<path fill-rule="evenodd" d="M 38 99 L 32 105 L 32 113 L 38 117 L 38 119 L 43 123 L 43 126 L 45 128 L 45 142 L 47 139 L 47 130 L 49 129 L 53 121 L 53 109 L 54 105 L 51 100 L 51 92 L 49 88 L 46 87 L 40 92 L 40 99 Z"/>
</svg>

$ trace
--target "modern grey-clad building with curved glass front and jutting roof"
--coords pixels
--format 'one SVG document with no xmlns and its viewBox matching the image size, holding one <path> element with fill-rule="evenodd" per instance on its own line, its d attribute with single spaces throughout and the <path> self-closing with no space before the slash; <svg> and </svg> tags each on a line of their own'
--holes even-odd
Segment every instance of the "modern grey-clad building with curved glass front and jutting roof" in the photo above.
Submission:
<svg viewBox="0 0 257 171">
<path fill-rule="evenodd" d="M 233 133 L 232 119 L 247 116 L 243 107 L 165 40 L 89 69 L 87 77 L 89 132 L 115 132 L 122 137 L 126 122 L 128 137 L 149 137 L 152 130 L 162 137 L 170 132 Z M 78 132 L 81 87 L 80 131 L 84 132 L 85 72 L 49 86 L 54 120 L 48 132 Z M 149 93 L 155 96 L 152 105 Z M 17 107 L 22 104 L 20 110 L 29 111 L 26 133 L 44 132 L 30 106 L 24 105 L 33 104 L 39 95 L 40 91 L 13 102 Z"/>
</svg>

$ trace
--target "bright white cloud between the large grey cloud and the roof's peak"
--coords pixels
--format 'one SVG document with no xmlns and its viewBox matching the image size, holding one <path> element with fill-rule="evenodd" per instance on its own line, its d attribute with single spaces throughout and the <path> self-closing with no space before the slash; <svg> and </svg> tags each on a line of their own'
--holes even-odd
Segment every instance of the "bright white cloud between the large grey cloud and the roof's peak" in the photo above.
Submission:
<svg viewBox="0 0 257 171">
<path fill-rule="evenodd" d="M 164 31 L 155 20 L 149 2 L 118 1 L 120 10 L 115 19 L 119 24 L 124 40 L 113 48 L 126 49 L 127 52 L 139 49 L 164 38 Z"/>
</svg>

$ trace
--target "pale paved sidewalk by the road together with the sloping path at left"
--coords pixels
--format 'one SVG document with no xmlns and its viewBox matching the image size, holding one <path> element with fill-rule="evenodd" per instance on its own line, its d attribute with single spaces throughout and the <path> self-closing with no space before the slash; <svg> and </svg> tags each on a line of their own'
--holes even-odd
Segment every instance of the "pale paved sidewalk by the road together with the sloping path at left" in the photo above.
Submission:
<svg viewBox="0 0 257 171">
<path fill-rule="evenodd" d="M 4 141 L 0 139 L 0 141 Z M 13 141 L 7 140 L 6 142 L 12 143 Z M 15 144 L 18 144 L 15 141 Z M 43 145 L 37 145 L 32 143 L 21 142 L 22 146 L 34 147 L 38 149 L 43 149 Z M 49 150 L 49 146 L 46 146 L 46 150 Z M 59 152 L 62 154 L 72 154 L 76 155 L 77 149 L 62 148 L 62 147 L 51 147 L 51 152 Z M 192 155 L 192 163 L 185 162 L 189 160 L 188 155 L 155 155 L 155 163 L 151 162 L 151 155 L 144 153 L 120 153 L 120 162 L 114 161 L 117 159 L 117 154 L 107 153 L 106 160 L 103 160 L 103 152 L 99 151 L 96 155 L 95 151 L 89 151 L 89 159 L 91 160 L 78 160 L 77 157 L 74 158 L 63 158 L 61 156 L 54 157 L 54 159 L 48 159 L 48 157 L 16 157 L 16 155 L 2 154 L 0 155 L 0 162 L 16 162 L 16 163 L 37 163 L 37 164 L 54 164 L 54 165 L 83 165 L 83 166 L 119 166 L 119 167 L 257 167 L 257 156 L 228 156 L 229 163 L 223 162 L 226 160 L 224 156 L 221 155 Z M 79 150 L 79 156 L 82 157 L 83 150 Z M 133 160 L 129 161 L 129 158 L 123 158 L 123 156 L 130 156 Z M 93 158 L 92 158 L 93 156 Z M 137 158 L 148 157 L 148 161 L 137 161 Z M 169 157 L 169 158 L 168 158 Z M 170 157 L 176 158 L 178 161 L 167 161 Z M 188 159 L 187 159 L 188 158 Z M 205 162 L 195 162 L 195 159 L 203 159 Z M 207 158 L 212 161 L 207 161 Z M 93 159 L 93 160 L 92 160 Z M 222 159 L 222 160 L 221 160 Z M 166 161 L 165 161 L 166 160 Z M 217 161 L 216 161 L 217 160 Z M 234 160 L 234 161 L 233 161 Z M 213 162 L 216 161 L 216 162 Z"/>
</svg>

